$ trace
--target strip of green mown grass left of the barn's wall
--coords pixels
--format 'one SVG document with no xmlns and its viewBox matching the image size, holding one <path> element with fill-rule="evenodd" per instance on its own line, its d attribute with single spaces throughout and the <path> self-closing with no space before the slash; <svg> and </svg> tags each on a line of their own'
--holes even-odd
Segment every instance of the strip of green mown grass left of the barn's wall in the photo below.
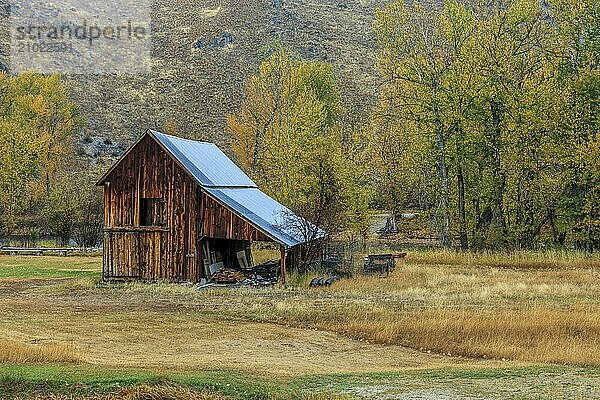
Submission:
<svg viewBox="0 0 600 400">
<path fill-rule="evenodd" d="M 101 272 L 99 257 L 0 256 L 0 279 L 100 277 Z"/>
</svg>

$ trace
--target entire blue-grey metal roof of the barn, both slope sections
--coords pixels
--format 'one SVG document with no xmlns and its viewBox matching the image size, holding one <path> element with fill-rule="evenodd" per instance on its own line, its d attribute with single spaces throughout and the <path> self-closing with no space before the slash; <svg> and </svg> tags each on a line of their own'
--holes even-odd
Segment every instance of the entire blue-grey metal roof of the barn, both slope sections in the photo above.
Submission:
<svg viewBox="0 0 600 400">
<path fill-rule="evenodd" d="M 146 135 L 154 138 L 209 196 L 263 231 L 275 242 L 294 247 L 321 238 L 325 232 L 263 193 L 258 186 L 215 144 L 182 139 L 153 130 L 146 131 L 122 157 Z M 118 164 L 115 163 L 115 166 Z M 98 181 L 102 185 L 110 172 Z M 306 231 L 311 232 L 307 235 Z"/>
</svg>

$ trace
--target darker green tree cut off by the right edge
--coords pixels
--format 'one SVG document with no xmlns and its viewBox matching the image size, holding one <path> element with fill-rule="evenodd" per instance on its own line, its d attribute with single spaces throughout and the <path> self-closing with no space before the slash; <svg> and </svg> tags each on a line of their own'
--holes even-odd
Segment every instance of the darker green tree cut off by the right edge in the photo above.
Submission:
<svg viewBox="0 0 600 400">
<path fill-rule="evenodd" d="M 561 197 L 557 241 L 569 234 L 579 249 L 600 248 L 600 2 L 557 0 L 551 3 L 562 46 L 559 70 L 564 85 L 560 129 L 569 139 L 569 176 Z"/>
</svg>

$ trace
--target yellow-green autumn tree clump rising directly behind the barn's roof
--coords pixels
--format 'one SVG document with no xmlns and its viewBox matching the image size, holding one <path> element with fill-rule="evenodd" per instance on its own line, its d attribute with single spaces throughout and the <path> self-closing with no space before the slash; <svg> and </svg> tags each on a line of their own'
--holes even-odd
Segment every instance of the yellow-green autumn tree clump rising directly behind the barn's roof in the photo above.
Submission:
<svg viewBox="0 0 600 400">
<path fill-rule="evenodd" d="M 252 179 L 334 234 L 368 206 L 366 197 L 351 201 L 357 180 L 339 124 L 342 111 L 330 64 L 279 50 L 260 64 L 240 110 L 227 118 L 233 149 Z"/>
</svg>

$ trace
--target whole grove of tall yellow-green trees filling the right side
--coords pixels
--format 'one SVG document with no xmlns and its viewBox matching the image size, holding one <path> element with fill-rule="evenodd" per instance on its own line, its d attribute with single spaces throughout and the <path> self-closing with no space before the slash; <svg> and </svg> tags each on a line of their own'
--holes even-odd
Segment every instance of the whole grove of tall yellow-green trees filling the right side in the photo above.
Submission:
<svg viewBox="0 0 600 400">
<path fill-rule="evenodd" d="M 379 9 L 375 123 L 390 208 L 426 199 L 444 246 L 592 232 L 599 15 L 593 0 Z"/>
</svg>

